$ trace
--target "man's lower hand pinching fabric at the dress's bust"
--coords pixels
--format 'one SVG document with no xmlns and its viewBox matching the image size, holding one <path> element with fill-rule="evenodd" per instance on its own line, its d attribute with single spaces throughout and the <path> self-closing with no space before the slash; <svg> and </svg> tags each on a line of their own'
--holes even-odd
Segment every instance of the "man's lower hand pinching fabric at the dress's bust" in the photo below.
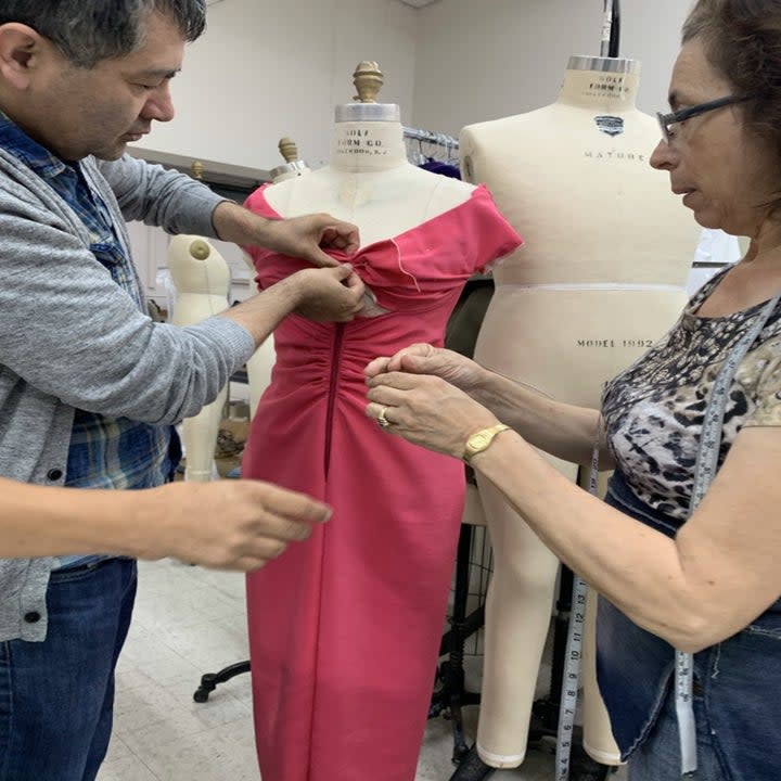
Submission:
<svg viewBox="0 0 781 781">
<path fill-rule="evenodd" d="M 329 269 L 304 269 L 287 278 L 299 304 L 296 315 L 316 322 L 348 322 L 363 308 L 364 286 L 349 264 Z"/>
</svg>

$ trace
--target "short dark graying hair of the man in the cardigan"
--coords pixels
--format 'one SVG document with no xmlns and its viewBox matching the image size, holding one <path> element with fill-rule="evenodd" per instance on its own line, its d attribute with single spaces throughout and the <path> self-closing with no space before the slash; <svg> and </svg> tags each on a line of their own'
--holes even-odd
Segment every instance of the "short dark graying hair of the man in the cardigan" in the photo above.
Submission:
<svg viewBox="0 0 781 781">
<path fill-rule="evenodd" d="M 170 16 L 185 41 L 206 26 L 206 0 L 2 0 L 0 24 L 26 24 L 72 64 L 91 68 L 143 46 L 143 21 L 151 11 Z"/>
</svg>

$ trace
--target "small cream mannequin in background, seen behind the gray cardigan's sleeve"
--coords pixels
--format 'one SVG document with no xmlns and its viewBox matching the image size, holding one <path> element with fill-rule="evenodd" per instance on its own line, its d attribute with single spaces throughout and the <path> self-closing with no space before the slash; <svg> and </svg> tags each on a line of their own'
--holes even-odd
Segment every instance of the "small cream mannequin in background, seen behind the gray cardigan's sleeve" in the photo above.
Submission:
<svg viewBox="0 0 781 781">
<path fill-rule="evenodd" d="M 228 308 L 230 269 L 205 239 L 174 236 L 168 246 L 168 269 L 177 290 L 171 317 L 175 325 L 192 325 Z M 226 386 L 199 414 L 182 422 L 185 481 L 207 483 L 213 478 L 215 445 L 227 398 Z"/>
</svg>

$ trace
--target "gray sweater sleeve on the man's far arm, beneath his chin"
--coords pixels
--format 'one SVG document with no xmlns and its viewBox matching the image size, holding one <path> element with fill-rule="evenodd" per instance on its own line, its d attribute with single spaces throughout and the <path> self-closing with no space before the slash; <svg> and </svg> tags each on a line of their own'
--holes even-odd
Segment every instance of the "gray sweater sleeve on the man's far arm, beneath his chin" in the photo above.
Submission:
<svg viewBox="0 0 781 781">
<path fill-rule="evenodd" d="M 168 233 L 218 238 L 212 214 L 226 199 L 205 184 L 128 154 L 116 161 L 94 162 L 127 221 L 141 220 Z"/>
</svg>

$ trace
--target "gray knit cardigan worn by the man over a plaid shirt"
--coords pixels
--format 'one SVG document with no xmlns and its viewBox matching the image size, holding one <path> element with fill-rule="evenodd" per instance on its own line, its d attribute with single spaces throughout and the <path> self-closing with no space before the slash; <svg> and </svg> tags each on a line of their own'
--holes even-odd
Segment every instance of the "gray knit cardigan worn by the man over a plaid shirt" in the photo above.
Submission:
<svg viewBox="0 0 781 781">
<path fill-rule="evenodd" d="M 87 159 L 84 168 L 126 247 L 124 220 L 215 235 L 212 213 L 221 199 L 189 177 L 130 156 Z M 255 349 L 251 335 L 225 318 L 185 329 L 154 323 L 113 282 L 89 244 L 73 209 L 0 149 L 3 476 L 62 484 L 76 408 L 175 423 L 210 402 Z M 0 641 L 44 639 L 53 562 L 0 560 Z M 35 614 L 41 618 L 30 623 Z"/>
</svg>

